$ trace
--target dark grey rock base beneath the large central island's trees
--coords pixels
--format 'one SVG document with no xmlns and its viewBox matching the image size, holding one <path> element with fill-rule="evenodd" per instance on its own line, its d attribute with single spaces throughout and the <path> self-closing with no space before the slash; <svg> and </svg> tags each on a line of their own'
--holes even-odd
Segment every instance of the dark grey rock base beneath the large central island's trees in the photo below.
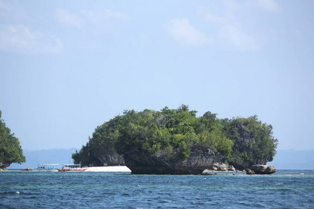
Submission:
<svg viewBox="0 0 314 209">
<path fill-rule="evenodd" d="M 174 150 L 175 152 L 175 150 Z M 175 155 L 175 153 L 172 153 Z M 108 166 L 121 165 L 128 167 L 133 174 L 202 174 L 212 171 L 236 171 L 234 166 L 223 163 L 223 157 L 211 149 L 195 147 L 190 157 L 185 160 L 169 160 L 161 150 L 158 155 L 151 156 L 144 152 L 130 150 L 124 155 L 119 155 L 115 150 L 103 150 L 94 153 L 102 164 Z M 243 166 L 237 167 L 242 169 Z M 274 166 L 253 165 L 246 167 L 247 174 L 275 173 Z"/>
</svg>

